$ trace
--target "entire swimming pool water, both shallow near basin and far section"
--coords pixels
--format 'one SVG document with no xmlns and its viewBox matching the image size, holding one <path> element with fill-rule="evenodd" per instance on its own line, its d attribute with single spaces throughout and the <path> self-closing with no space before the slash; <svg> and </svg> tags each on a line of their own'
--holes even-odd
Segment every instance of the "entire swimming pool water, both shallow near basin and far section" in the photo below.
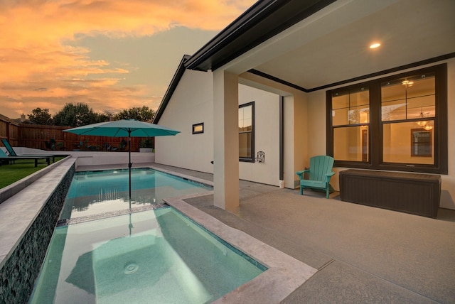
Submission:
<svg viewBox="0 0 455 304">
<path fill-rule="evenodd" d="M 169 188 L 182 195 L 210 187 L 159 171 L 136 172 L 132 177 L 143 182 L 133 188 L 132 210 L 150 210 L 109 217 L 129 206 L 122 188 L 127 174 L 121 178 L 117 173 L 75 175 L 61 217 L 85 221 L 55 229 L 31 303 L 207 303 L 266 270 L 180 212 L 158 204 Z M 118 189 L 100 183 L 103 178 Z M 154 190 L 145 187 L 151 184 Z M 144 194 L 149 202 L 137 199 Z"/>
</svg>

